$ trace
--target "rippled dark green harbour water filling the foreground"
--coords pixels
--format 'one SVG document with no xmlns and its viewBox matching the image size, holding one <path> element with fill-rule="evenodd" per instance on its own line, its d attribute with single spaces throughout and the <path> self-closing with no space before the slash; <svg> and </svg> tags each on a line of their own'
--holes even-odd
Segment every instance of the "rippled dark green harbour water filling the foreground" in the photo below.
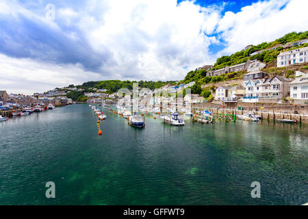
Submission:
<svg viewBox="0 0 308 219">
<path fill-rule="evenodd" d="M 88 105 L 0 123 L 1 205 L 300 205 L 308 202 L 308 127 L 146 117 L 136 129 Z M 45 184 L 55 182 L 56 198 Z M 251 183 L 261 198 L 251 198 Z"/>
</svg>

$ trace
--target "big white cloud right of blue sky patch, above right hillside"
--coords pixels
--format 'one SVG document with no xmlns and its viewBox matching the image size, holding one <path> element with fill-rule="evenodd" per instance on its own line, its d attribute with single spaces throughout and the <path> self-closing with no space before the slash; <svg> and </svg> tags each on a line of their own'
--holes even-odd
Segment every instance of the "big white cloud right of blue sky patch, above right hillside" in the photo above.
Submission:
<svg viewBox="0 0 308 219">
<path fill-rule="evenodd" d="M 283 5 L 285 8 L 280 10 Z M 220 38 L 227 42 L 220 54 L 240 51 L 248 44 L 270 42 L 292 31 L 306 31 L 307 8 L 306 0 L 272 0 L 253 3 L 236 14 L 226 12 L 217 28 Z"/>
</svg>

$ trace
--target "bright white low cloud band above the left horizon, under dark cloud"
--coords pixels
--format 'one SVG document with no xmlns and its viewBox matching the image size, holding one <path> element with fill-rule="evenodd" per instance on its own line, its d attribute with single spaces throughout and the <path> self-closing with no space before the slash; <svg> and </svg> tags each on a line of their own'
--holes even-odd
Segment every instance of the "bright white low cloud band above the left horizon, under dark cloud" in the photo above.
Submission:
<svg viewBox="0 0 308 219">
<path fill-rule="evenodd" d="M 69 84 L 99 80 L 97 73 L 83 70 L 82 66 L 55 65 L 31 59 L 17 59 L 0 54 L 0 88 L 12 93 L 33 94 Z"/>
</svg>

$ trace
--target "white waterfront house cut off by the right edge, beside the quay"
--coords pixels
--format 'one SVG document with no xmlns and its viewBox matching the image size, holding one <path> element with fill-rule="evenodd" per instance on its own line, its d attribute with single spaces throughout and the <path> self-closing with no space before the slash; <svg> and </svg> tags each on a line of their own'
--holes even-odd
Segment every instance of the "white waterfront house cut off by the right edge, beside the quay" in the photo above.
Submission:
<svg viewBox="0 0 308 219">
<path fill-rule="evenodd" d="M 290 83 L 290 97 L 296 103 L 308 101 L 308 74 L 303 74 Z"/>
</svg>

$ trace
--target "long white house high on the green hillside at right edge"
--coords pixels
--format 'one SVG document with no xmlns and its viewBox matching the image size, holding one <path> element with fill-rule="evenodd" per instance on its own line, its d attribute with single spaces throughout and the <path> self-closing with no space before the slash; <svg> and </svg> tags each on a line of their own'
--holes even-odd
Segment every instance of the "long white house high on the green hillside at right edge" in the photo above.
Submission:
<svg viewBox="0 0 308 219">
<path fill-rule="evenodd" d="M 308 47 L 285 51 L 277 57 L 277 67 L 285 67 L 304 62 L 308 62 Z"/>
</svg>

